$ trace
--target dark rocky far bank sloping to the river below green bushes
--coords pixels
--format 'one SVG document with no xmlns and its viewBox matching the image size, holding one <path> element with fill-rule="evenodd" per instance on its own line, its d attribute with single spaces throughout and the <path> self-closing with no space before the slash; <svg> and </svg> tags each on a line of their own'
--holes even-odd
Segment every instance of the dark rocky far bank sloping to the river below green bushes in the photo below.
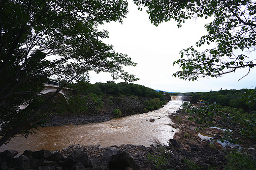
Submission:
<svg viewBox="0 0 256 170">
<path fill-rule="evenodd" d="M 166 101 L 170 100 L 169 96 L 164 96 Z M 135 96 L 109 96 L 102 98 L 102 105 L 99 106 L 94 100 L 89 98 L 88 108 L 83 114 L 67 113 L 60 116 L 50 118 L 44 126 L 63 126 L 67 124 L 83 125 L 88 123 L 100 123 L 110 121 L 117 116 L 114 114 L 115 109 L 121 111 L 119 117 L 126 117 L 135 114 L 142 114 L 149 111 L 144 105 L 145 101 L 152 100 L 152 98 L 135 97 Z M 151 110 L 158 110 L 164 105 L 158 105 Z"/>
</svg>

